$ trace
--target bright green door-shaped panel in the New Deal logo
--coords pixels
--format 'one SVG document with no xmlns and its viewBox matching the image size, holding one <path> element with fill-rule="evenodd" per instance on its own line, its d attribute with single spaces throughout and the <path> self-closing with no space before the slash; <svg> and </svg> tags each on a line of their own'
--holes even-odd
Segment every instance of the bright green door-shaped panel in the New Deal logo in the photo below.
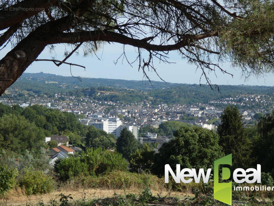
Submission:
<svg viewBox="0 0 274 206">
<path fill-rule="evenodd" d="M 219 183 L 219 165 L 232 166 L 232 154 L 226 155 L 214 161 L 214 199 L 232 205 L 232 182 Z M 230 177 L 230 169 L 222 168 L 222 180 Z"/>
</svg>

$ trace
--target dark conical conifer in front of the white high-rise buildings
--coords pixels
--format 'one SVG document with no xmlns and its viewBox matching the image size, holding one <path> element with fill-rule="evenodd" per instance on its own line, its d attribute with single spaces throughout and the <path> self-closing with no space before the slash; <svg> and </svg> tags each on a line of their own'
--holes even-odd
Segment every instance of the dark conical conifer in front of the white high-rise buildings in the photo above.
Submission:
<svg viewBox="0 0 274 206">
<path fill-rule="evenodd" d="M 116 140 L 116 149 L 124 158 L 129 159 L 130 154 L 134 153 L 138 149 L 137 141 L 138 140 L 135 139 L 134 135 L 124 128 Z"/>
</svg>

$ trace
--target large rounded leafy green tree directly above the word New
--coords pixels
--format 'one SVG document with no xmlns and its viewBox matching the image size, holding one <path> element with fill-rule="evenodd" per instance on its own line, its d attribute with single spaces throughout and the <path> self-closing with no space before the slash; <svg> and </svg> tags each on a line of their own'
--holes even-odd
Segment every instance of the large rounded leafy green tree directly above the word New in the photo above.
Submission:
<svg viewBox="0 0 274 206">
<path fill-rule="evenodd" d="M 164 165 L 173 170 L 176 164 L 181 168 L 213 168 L 214 160 L 222 157 L 219 136 L 213 130 L 201 127 L 182 126 L 174 132 L 175 138 L 164 143 L 155 154 L 153 173 L 164 174 Z"/>
</svg>

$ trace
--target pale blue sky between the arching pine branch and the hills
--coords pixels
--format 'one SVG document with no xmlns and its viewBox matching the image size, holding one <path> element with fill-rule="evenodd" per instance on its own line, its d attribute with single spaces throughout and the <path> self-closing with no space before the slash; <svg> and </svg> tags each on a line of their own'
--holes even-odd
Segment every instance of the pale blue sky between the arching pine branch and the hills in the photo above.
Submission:
<svg viewBox="0 0 274 206">
<path fill-rule="evenodd" d="M 10 48 L 5 48 L 0 51 L 1 58 L 8 52 Z M 55 52 L 50 53 L 48 48 L 39 55 L 38 59 L 52 59 L 51 57 L 55 56 L 58 60 L 64 59 L 64 45 L 58 45 L 55 48 Z M 68 51 L 72 49 L 67 46 Z M 109 44 L 105 43 L 98 49 L 96 55 L 89 55 L 83 57 L 81 49 L 79 50 L 79 55 L 73 54 L 67 62 L 80 64 L 86 67 L 84 68 L 72 66 L 72 74 L 74 76 L 82 77 L 92 77 L 92 78 L 109 78 L 109 79 L 126 79 L 126 80 L 142 80 L 142 72 L 138 72 L 138 64 L 133 64 L 133 68 L 126 62 L 124 59 L 123 63 L 121 59 L 115 65 L 113 63 L 123 52 L 121 44 Z M 132 46 L 125 46 L 125 51 L 130 62 L 133 62 L 137 56 L 136 49 Z M 145 57 L 145 56 L 144 56 Z M 157 68 L 158 74 L 167 82 L 172 83 L 199 83 L 201 76 L 201 70 L 197 69 L 196 66 L 187 63 L 186 60 L 181 59 L 181 56 L 178 52 L 169 53 L 170 62 L 176 62 L 175 64 L 164 64 L 154 62 L 155 68 Z M 222 74 L 220 71 L 216 72 L 217 78 L 214 73 L 210 73 L 209 77 L 213 84 L 229 84 L 229 85 L 265 85 L 265 86 L 274 86 L 273 74 L 268 74 L 267 77 L 259 78 L 250 77 L 249 80 L 245 81 L 241 76 L 240 70 L 235 70 L 231 68 L 230 63 L 225 63 L 222 66 L 223 69 L 234 74 L 232 78 L 228 74 Z M 25 72 L 27 73 L 51 73 L 62 76 L 70 76 L 70 66 L 61 65 L 59 67 L 55 66 L 53 62 L 33 62 Z M 147 72 L 151 80 L 161 81 L 159 77 L 154 72 Z M 202 77 L 201 83 L 206 83 L 204 77 Z"/>
</svg>

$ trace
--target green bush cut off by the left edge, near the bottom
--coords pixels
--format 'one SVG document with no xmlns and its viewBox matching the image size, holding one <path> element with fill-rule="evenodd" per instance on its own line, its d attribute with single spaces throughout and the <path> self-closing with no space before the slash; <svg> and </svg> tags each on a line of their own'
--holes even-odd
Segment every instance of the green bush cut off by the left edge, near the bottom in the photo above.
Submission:
<svg viewBox="0 0 274 206">
<path fill-rule="evenodd" d="M 0 196 L 16 185 L 17 175 L 16 168 L 9 168 L 6 164 L 0 163 Z"/>
</svg>

